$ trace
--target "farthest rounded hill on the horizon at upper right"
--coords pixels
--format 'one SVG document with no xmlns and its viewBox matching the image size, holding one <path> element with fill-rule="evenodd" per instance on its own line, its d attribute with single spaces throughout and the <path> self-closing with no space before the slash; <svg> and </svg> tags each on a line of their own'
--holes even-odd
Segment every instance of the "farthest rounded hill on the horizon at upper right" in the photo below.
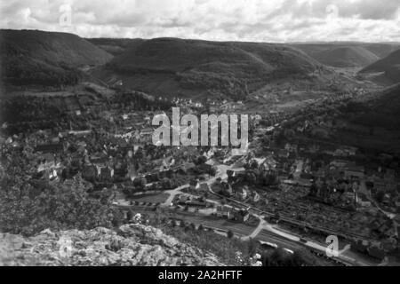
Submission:
<svg viewBox="0 0 400 284">
<path fill-rule="evenodd" d="M 399 43 L 294 43 L 293 46 L 331 67 L 366 67 L 400 49 Z"/>
</svg>

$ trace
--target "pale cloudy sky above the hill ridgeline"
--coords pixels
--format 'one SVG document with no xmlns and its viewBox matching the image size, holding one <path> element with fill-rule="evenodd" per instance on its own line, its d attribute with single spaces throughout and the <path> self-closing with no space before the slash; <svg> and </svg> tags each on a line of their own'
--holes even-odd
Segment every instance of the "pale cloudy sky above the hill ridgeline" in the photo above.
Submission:
<svg viewBox="0 0 400 284">
<path fill-rule="evenodd" d="M 399 0 L 8 0 L 0 28 L 84 37 L 398 41 Z"/>
</svg>

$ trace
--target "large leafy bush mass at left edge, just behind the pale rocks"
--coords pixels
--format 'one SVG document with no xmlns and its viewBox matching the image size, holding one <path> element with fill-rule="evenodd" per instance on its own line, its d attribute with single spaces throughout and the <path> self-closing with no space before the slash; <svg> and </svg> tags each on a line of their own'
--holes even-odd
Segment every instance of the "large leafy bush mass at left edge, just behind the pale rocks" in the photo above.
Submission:
<svg viewBox="0 0 400 284">
<path fill-rule="evenodd" d="M 109 204 L 90 199 L 81 178 L 71 183 L 2 178 L 0 231 L 32 235 L 52 230 L 92 229 L 118 225 L 122 214 Z"/>
</svg>

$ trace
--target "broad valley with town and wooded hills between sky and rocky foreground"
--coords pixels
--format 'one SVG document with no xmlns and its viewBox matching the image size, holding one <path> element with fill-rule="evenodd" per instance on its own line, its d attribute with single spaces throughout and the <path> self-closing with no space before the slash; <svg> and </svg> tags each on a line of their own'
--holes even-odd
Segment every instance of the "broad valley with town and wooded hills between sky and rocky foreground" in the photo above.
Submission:
<svg viewBox="0 0 400 284">
<path fill-rule="evenodd" d="M 228 264 L 276 251 L 305 265 L 398 263 L 400 45 L 0 37 L 0 230 L 140 223 Z M 248 153 L 153 145 L 152 118 L 172 106 L 248 114 Z M 332 235 L 340 253 L 326 257 Z"/>
</svg>

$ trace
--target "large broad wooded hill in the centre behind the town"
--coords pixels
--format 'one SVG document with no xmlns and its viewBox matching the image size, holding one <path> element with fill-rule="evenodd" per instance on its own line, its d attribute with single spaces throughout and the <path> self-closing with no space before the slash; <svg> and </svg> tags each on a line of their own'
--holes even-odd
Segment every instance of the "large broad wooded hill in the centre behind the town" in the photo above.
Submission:
<svg viewBox="0 0 400 284">
<path fill-rule="evenodd" d="M 105 81 L 117 75 L 125 86 L 148 93 L 240 98 L 252 84 L 305 77 L 319 68 L 281 44 L 157 38 L 133 45 L 97 75 Z"/>
</svg>

